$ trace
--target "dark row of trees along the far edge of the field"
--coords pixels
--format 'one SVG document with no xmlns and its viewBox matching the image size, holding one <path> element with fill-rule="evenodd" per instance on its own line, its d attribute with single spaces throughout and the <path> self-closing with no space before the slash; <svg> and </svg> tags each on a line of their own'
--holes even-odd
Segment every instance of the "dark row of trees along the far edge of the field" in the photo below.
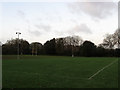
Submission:
<svg viewBox="0 0 120 90">
<path fill-rule="evenodd" d="M 18 45 L 19 44 L 19 45 Z M 85 57 L 120 56 L 120 30 L 107 34 L 98 46 L 91 41 L 84 41 L 79 36 L 53 38 L 43 45 L 39 42 L 29 43 L 24 39 L 7 40 L 2 45 L 3 55 L 16 55 L 19 46 L 20 55 L 65 55 Z"/>
</svg>

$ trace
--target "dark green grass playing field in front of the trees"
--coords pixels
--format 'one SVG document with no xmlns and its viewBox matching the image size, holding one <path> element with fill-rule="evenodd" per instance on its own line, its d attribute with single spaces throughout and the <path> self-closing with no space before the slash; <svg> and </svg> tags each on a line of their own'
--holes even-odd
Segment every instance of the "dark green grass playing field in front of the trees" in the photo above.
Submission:
<svg viewBox="0 0 120 90">
<path fill-rule="evenodd" d="M 117 58 L 16 58 L 3 56 L 3 88 L 118 88 Z"/>
</svg>

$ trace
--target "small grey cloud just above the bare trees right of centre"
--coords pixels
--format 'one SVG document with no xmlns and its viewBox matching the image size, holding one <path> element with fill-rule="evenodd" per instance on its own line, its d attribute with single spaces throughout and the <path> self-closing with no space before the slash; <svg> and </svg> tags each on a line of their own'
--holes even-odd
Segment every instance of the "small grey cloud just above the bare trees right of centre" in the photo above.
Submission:
<svg viewBox="0 0 120 90">
<path fill-rule="evenodd" d="M 72 29 L 67 31 L 69 34 L 75 34 L 75 33 L 86 33 L 86 34 L 91 34 L 90 28 L 86 24 L 81 24 L 81 25 L 76 25 Z"/>
</svg>

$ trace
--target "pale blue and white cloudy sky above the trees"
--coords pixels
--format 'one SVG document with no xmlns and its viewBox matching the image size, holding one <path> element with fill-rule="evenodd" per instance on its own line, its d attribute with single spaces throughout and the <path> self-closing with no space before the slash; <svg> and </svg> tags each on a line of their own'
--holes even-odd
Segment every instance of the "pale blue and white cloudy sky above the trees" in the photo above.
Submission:
<svg viewBox="0 0 120 90">
<path fill-rule="evenodd" d="M 77 35 L 96 45 L 118 28 L 117 2 L 1 2 L 0 41 L 20 39 L 44 44 Z"/>
</svg>

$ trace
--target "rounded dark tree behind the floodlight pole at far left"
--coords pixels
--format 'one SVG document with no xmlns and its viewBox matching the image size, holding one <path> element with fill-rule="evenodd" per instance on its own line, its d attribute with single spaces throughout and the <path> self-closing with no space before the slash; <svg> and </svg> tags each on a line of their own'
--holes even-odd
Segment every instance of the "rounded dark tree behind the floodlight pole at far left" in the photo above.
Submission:
<svg viewBox="0 0 120 90">
<path fill-rule="evenodd" d="M 3 54 L 17 54 L 18 39 L 7 40 L 2 45 Z M 19 54 L 29 54 L 29 43 L 26 40 L 19 39 Z"/>
</svg>

